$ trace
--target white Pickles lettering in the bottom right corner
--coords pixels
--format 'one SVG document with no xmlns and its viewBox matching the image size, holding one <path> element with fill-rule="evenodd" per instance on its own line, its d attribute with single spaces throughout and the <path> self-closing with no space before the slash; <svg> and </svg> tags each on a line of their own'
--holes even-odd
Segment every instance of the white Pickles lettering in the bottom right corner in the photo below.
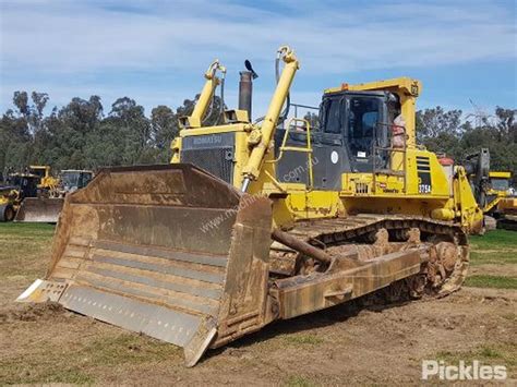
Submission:
<svg viewBox="0 0 517 387">
<path fill-rule="evenodd" d="M 478 360 L 466 363 L 460 360 L 457 365 L 446 365 L 444 361 L 423 360 L 422 379 L 440 380 L 505 380 L 504 365 L 483 365 Z"/>
</svg>

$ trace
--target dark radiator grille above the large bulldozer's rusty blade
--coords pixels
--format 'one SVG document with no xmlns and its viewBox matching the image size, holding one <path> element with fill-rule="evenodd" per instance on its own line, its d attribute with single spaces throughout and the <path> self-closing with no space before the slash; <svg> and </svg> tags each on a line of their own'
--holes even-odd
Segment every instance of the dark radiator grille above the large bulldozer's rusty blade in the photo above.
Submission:
<svg viewBox="0 0 517 387">
<path fill-rule="evenodd" d="M 229 184 L 233 183 L 233 148 L 184 149 L 181 162 L 190 162 L 218 177 Z"/>
</svg>

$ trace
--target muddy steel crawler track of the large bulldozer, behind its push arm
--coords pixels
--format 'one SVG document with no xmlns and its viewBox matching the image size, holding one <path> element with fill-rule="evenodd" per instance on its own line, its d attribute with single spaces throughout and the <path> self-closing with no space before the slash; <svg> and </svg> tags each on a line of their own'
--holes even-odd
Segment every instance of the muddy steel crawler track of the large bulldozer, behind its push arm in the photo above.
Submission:
<svg viewBox="0 0 517 387">
<path fill-rule="evenodd" d="M 414 230 L 419 232 L 414 234 Z M 384 249 L 378 243 L 380 232 L 385 233 Z M 359 252 L 359 258 L 377 257 L 394 249 L 428 245 L 430 259 L 422 264 L 421 273 L 414 278 L 405 279 L 404 283 L 394 283 L 389 287 L 392 289 L 385 289 L 384 293 L 389 295 L 390 301 L 394 301 L 394 293 L 411 294 L 412 298 L 420 298 L 424 293 L 438 297 L 449 294 L 460 288 L 467 275 L 467 234 L 458 225 L 452 222 L 414 216 L 361 214 L 347 218 L 300 221 L 288 233 L 323 249 L 330 255 L 353 247 Z M 279 276 L 326 269 L 302 254 L 285 250 L 277 244 L 272 246 L 272 271 Z M 393 289 L 394 287 L 397 289 Z"/>
</svg>

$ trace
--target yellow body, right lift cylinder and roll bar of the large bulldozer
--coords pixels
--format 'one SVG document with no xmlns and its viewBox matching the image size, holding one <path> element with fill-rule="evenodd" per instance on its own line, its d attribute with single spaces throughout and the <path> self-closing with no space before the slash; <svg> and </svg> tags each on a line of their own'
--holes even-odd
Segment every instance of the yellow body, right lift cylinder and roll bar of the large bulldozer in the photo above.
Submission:
<svg viewBox="0 0 517 387">
<path fill-rule="evenodd" d="M 467 230 L 474 230 L 480 225 L 483 214 L 476 204 L 465 169 L 456 167 L 455 178 L 449 181 L 446 169 L 440 165 L 436 155 L 416 145 L 416 99 L 422 85 L 409 77 L 345 85 L 325 90 L 325 93 L 341 92 L 346 88 L 389 90 L 399 96 L 401 113 L 406 121 L 407 141 L 404 149 L 390 153 L 389 170 L 374 173 L 344 173 L 340 191 L 315 190 L 312 183 L 306 186 L 300 183 L 279 182 L 276 166 L 281 154 L 303 152 L 311 159 L 312 145 L 308 140 L 306 147 L 292 147 L 286 146 L 284 141 L 278 159 L 274 157 L 274 133 L 278 117 L 299 69 L 298 59 L 290 48 L 281 47 L 278 52 L 285 66 L 262 125 L 237 122 L 211 128 L 183 129 L 171 144 L 173 150 L 171 162 L 181 162 L 181 142 L 187 136 L 235 133 L 232 184 L 240 189 L 244 179 L 249 179 L 251 183 L 247 192 L 267 195 L 273 202 L 276 227 L 290 227 L 296 220 L 301 219 L 332 218 L 356 213 L 405 214 L 454 220 Z M 204 104 L 204 99 L 200 99 L 197 104 Z M 312 166 L 311 162 L 309 165 Z M 426 179 L 428 172 L 431 179 L 430 185 L 422 181 L 422 177 Z M 309 168 L 308 173 L 309 181 L 312 182 L 312 168 Z"/>
</svg>

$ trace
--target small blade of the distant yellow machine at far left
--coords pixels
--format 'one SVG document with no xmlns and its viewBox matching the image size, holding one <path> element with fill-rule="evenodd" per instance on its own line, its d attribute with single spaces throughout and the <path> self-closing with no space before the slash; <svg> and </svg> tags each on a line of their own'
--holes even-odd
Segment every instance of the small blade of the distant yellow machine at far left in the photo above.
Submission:
<svg viewBox="0 0 517 387">
<path fill-rule="evenodd" d="M 26 197 L 23 199 L 14 221 L 57 223 L 63 203 L 62 198 Z"/>
</svg>

